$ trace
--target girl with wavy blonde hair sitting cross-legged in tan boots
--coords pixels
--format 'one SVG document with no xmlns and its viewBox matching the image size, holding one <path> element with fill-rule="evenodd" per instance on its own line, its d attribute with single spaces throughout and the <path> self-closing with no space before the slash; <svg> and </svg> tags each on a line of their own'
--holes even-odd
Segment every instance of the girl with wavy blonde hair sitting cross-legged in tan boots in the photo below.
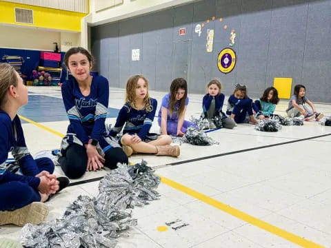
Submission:
<svg viewBox="0 0 331 248">
<path fill-rule="evenodd" d="M 148 94 L 148 80 L 142 75 L 131 76 L 126 83 L 126 104 L 110 131 L 116 136 L 124 127 L 121 145 L 128 156 L 132 153 L 179 156 L 179 146 L 170 145 L 170 136 L 150 133 L 156 110 L 157 100 Z"/>
</svg>

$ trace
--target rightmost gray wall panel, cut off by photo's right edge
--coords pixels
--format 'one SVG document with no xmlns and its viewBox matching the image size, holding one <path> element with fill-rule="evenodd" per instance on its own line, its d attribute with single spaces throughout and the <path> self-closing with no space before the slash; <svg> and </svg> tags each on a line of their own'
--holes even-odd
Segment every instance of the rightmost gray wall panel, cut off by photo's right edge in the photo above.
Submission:
<svg viewBox="0 0 331 248">
<path fill-rule="evenodd" d="M 310 3 L 302 83 L 312 101 L 331 103 L 331 1 Z"/>
</svg>

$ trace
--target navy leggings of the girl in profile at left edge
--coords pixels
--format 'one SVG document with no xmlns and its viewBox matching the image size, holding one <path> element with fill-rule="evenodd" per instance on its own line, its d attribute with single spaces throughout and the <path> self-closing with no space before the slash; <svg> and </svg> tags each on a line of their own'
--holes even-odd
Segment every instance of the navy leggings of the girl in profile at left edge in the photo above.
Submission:
<svg viewBox="0 0 331 248">
<path fill-rule="evenodd" d="M 50 158 L 38 158 L 35 161 L 39 172 L 54 172 L 54 163 Z M 19 209 L 30 203 L 39 202 L 40 199 L 38 189 L 32 188 L 28 183 L 11 181 L 0 184 L 0 211 Z"/>
</svg>

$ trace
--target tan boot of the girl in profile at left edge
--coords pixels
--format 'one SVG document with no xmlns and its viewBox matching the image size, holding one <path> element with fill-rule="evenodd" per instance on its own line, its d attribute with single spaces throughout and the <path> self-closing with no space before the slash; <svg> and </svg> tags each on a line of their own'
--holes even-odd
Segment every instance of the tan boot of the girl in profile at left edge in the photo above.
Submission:
<svg viewBox="0 0 331 248">
<path fill-rule="evenodd" d="M 39 225 L 47 216 L 48 206 L 45 203 L 34 202 L 14 211 L 0 211 L 0 225 Z"/>
</svg>

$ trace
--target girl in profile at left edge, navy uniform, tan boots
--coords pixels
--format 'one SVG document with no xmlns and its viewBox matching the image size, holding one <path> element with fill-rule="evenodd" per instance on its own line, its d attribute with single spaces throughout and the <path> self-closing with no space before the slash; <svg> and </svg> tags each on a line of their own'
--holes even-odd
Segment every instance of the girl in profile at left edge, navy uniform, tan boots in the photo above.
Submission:
<svg viewBox="0 0 331 248">
<path fill-rule="evenodd" d="M 34 160 L 26 147 L 17 111 L 28 103 L 28 89 L 19 74 L 7 63 L 0 64 L 0 225 L 37 225 L 46 219 L 44 202 L 59 191 L 59 180 L 52 175 L 50 158 Z M 14 156 L 21 174 L 6 164 L 8 152 Z M 58 180 L 57 180 L 58 179 Z M 62 178 L 62 188 L 68 178 Z"/>
</svg>

